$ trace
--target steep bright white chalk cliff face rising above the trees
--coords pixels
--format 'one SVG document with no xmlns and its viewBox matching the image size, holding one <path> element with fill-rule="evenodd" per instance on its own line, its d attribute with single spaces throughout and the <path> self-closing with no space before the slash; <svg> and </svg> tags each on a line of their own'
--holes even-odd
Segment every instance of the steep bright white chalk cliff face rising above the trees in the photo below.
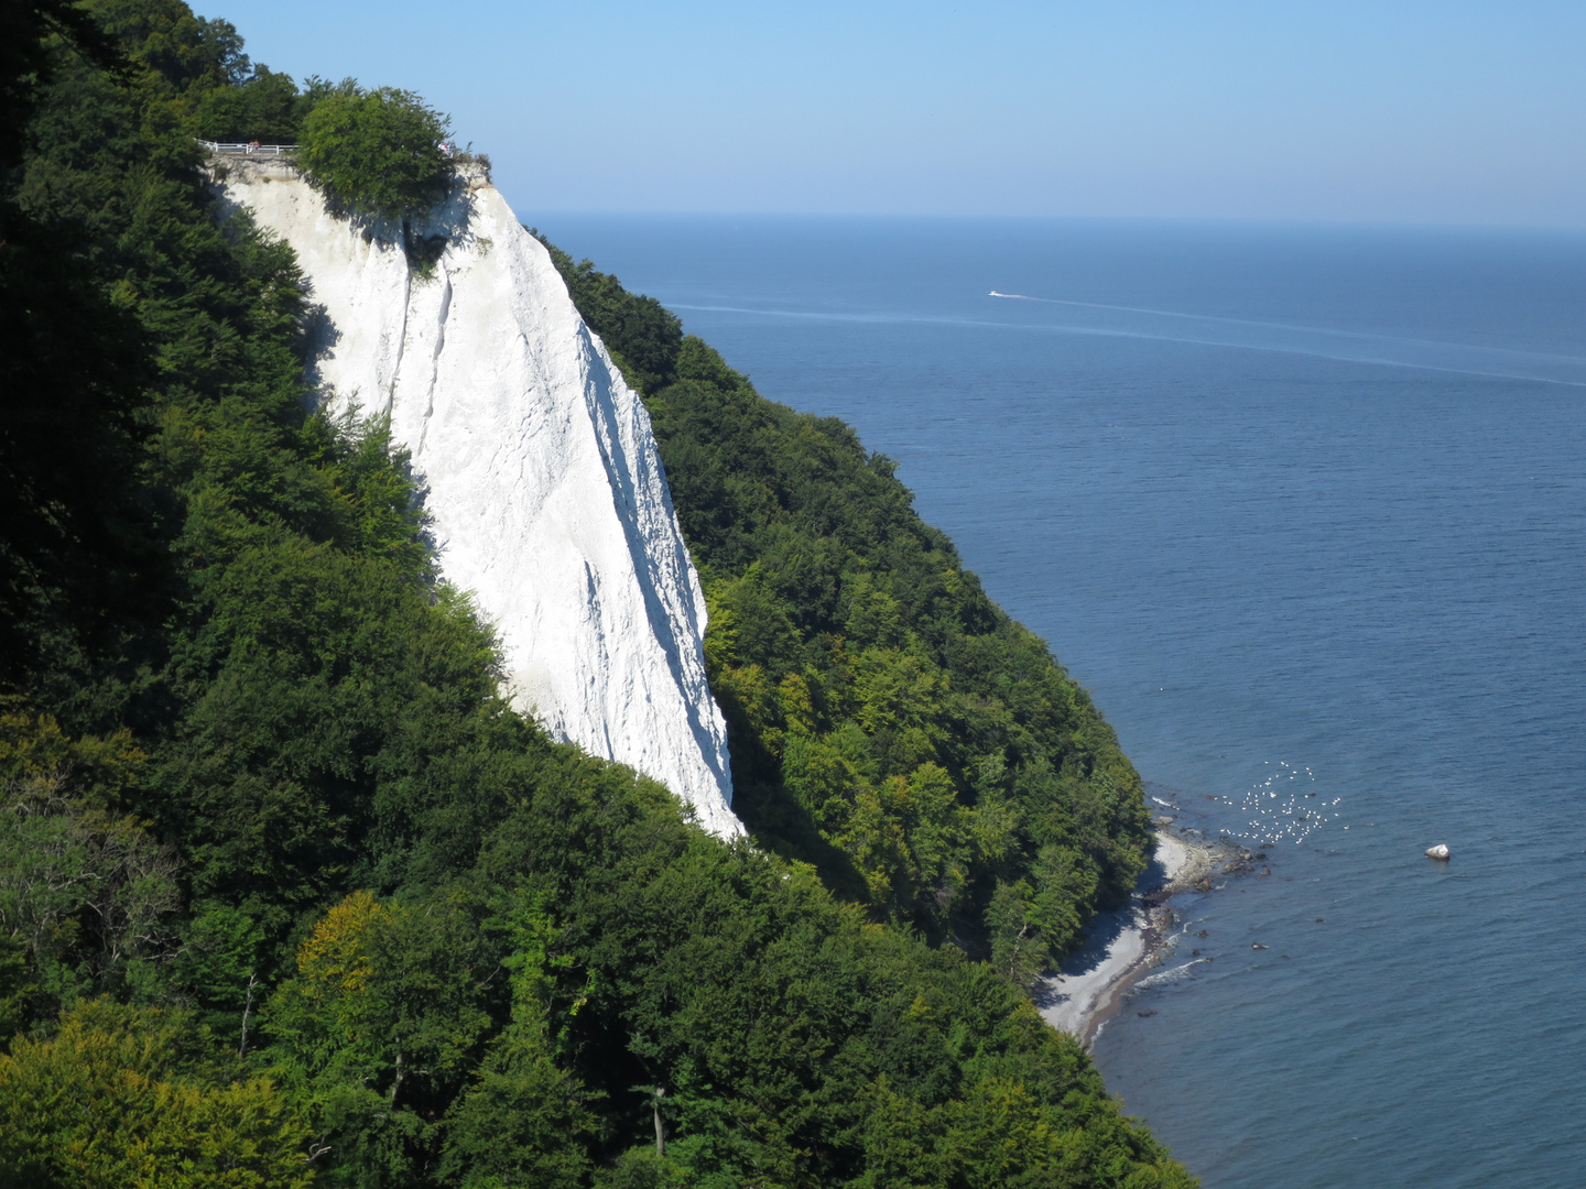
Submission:
<svg viewBox="0 0 1586 1189">
<path fill-rule="evenodd" d="M 546 249 L 484 173 L 404 236 L 333 216 L 287 163 L 228 165 L 225 200 L 292 244 L 324 308 L 327 400 L 389 412 L 412 452 L 441 572 L 495 626 L 514 704 L 739 834 L 650 419 Z"/>
</svg>

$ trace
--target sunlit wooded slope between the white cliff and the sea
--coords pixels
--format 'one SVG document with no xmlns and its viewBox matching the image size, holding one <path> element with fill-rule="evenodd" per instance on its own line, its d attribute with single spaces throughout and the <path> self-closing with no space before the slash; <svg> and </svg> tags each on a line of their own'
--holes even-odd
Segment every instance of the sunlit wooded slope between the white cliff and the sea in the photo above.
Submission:
<svg viewBox="0 0 1586 1189">
<path fill-rule="evenodd" d="M 1028 984 L 1145 867 L 1112 729 L 852 428 L 760 398 L 699 339 L 657 336 L 652 300 L 554 260 L 614 355 L 646 360 L 734 809 L 834 891 Z"/>
</svg>

